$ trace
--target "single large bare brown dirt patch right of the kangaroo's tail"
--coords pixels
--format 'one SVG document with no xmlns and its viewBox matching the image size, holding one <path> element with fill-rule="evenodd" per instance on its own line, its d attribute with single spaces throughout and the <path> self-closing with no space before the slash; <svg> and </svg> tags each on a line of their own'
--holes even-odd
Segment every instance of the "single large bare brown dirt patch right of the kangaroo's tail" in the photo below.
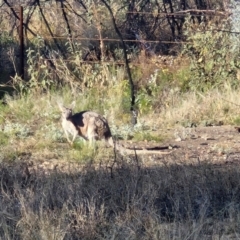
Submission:
<svg viewBox="0 0 240 240">
<path fill-rule="evenodd" d="M 212 164 L 239 164 L 240 132 L 235 126 L 209 126 L 196 128 L 167 129 L 169 136 L 160 144 L 138 143 L 139 149 L 149 150 L 149 163 L 198 164 L 209 161 Z M 130 147 L 133 144 L 130 144 Z M 150 154 L 158 149 L 169 154 Z M 145 155 L 146 156 L 146 155 Z"/>
</svg>

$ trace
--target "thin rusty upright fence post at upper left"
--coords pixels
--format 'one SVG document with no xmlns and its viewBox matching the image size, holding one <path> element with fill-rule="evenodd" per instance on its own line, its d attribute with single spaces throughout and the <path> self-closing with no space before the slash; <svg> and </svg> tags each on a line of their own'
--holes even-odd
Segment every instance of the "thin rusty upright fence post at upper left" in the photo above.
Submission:
<svg viewBox="0 0 240 240">
<path fill-rule="evenodd" d="M 24 79 L 24 35 L 23 35 L 23 7 L 20 6 L 20 14 L 19 14 L 19 75 L 22 79 Z"/>
</svg>

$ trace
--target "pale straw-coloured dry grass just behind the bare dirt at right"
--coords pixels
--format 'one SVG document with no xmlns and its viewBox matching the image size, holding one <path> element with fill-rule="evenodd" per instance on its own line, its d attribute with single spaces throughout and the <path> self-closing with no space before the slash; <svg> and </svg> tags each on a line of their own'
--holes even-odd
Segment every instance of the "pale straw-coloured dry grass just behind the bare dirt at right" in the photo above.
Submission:
<svg viewBox="0 0 240 240">
<path fill-rule="evenodd" d="M 211 90 L 207 94 L 175 93 L 169 96 L 172 104 L 163 110 L 161 120 L 170 125 L 186 121 L 199 125 L 204 120 L 233 124 L 239 115 L 240 102 L 237 95 L 238 90 L 232 90 L 228 86 L 222 90 Z"/>
</svg>

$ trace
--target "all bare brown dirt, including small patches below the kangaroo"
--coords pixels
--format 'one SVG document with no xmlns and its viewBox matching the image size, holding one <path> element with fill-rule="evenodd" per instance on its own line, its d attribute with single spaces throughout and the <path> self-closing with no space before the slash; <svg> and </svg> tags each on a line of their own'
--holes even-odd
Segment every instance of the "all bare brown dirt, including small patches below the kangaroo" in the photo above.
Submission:
<svg viewBox="0 0 240 240">
<path fill-rule="evenodd" d="M 217 167 L 239 165 L 240 132 L 234 126 L 180 127 L 159 130 L 160 134 L 166 136 L 165 140 L 160 143 L 120 141 L 122 145 L 132 149 L 132 154 L 125 157 L 129 157 L 129 161 L 134 161 L 137 158 L 143 166 L 161 166 L 166 164 L 197 165 L 203 162 L 209 162 Z M 67 143 L 62 145 L 64 151 L 67 151 L 70 147 Z M 144 149 L 148 153 L 135 155 L 134 149 Z M 106 151 L 111 152 L 111 149 L 105 149 L 104 152 Z M 106 158 L 106 164 L 111 165 L 113 158 L 111 157 L 109 160 L 107 155 L 104 156 L 103 154 L 103 163 L 105 161 L 104 158 Z M 121 156 L 118 155 L 118 158 L 121 159 Z M 50 157 L 48 153 L 47 158 L 42 160 L 32 155 L 29 156 L 28 160 L 30 160 L 27 161 L 28 163 L 30 162 L 30 164 L 27 164 L 30 167 L 29 169 L 40 170 L 40 172 L 44 171 L 49 174 L 55 169 L 64 172 L 66 169 L 71 171 L 79 171 L 81 169 L 81 166 L 76 161 L 63 161 L 60 157 L 56 157 L 55 154 Z"/>
</svg>

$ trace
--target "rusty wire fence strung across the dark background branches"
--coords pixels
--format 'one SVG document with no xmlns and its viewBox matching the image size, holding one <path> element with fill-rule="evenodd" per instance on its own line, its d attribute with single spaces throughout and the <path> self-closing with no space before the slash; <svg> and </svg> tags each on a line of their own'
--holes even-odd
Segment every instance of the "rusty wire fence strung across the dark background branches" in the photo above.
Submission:
<svg viewBox="0 0 240 240">
<path fill-rule="evenodd" d="M 104 15 L 105 14 L 105 15 Z M 117 34 L 113 29 L 111 16 L 103 12 L 103 9 L 92 9 L 91 16 L 85 11 L 79 14 L 77 9 L 72 6 L 2 6 L 0 7 L 0 68 L 6 74 L 15 75 L 17 70 L 20 76 L 24 77 L 24 69 L 28 62 L 26 49 L 29 48 L 34 41 L 38 39 L 44 42 L 47 50 L 50 48 L 61 52 L 64 61 L 71 62 L 66 53 L 66 44 L 72 47 L 81 46 L 82 57 L 81 63 L 96 64 L 118 64 L 125 65 L 126 62 L 120 58 L 108 58 L 107 52 L 111 52 L 111 48 L 122 48 L 122 44 L 127 44 L 128 49 L 144 50 L 150 55 L 161 55 L 164 52 L 177 51 L 183 44 L 188 42 L 182 38 L 181 24 L 187 16 L 192 18 L 202 18 L 203 16 L 229 17 L 230 12 L 216 10 L 198 10 L 188 9 L 177 12 L 137 12 L 119 11 L 114 13 L 115 20 L 118 23 L 118 30 L 121 35 Z M 129 27 L 128 17 L 131 17 L 132 26 Z M 126 17 L 123 21 L 123 16 Z M 141 23 L 141 18 L 145 17 L 145 25 Z M 174 17 L 174 19 L 173 19 Z M 86 19 L 88 21 L 86 21 Z M 140 20 L 139 20 L 140 19 Z M 120 21 L 121 20 L 121 21 Z M 134 21 L 135 20 L 135 21 Z M 141 23 L 139 25 L 135 23 Z M 180 27 L 179 27 L 180 26 Z M 142 31 L 148 30 L 149 36 Z M 174 29 L 173 29 L 174 28 Z M 209 30 L 207 30 L 209 31 Z M 211 31 L 227 31 L 226 29 L 211 29 Z M 130 32 L 130 33 L 129 33 Z M 231 31 L 229 31 L 231 32 Z M 240 32 L 231 32 L 232 34 L 240 34 Z M 13 40 L 15 39 L 15 41 Z M 112 47 L 114 45 L 114 47 Z M 174 50 L 174 47 L 177 50 Z M 104 50 L 103 50 L 104 49 Z M 86 56 L 94 52 L 95 56 L 104 54 L 103 56 L 92 58 L 89 60 Z M 116 55 L 111 52 L 109 55 Z M 44 57 L 44 55 L 43 55 Z M 51 56 L 46 60 L 53 61 Z M 138 65 L 138 62 L 131 64 Z M 8 71 L 7 71 L 8 70 Z"/>
</svg>

